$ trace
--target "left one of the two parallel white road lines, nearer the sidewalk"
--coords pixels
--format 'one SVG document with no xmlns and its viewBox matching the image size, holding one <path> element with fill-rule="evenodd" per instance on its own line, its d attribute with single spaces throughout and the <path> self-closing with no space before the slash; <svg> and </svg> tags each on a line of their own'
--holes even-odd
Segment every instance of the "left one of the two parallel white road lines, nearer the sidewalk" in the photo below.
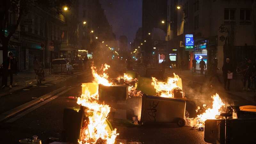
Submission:
<svg viewBox="0 0 256 144">
<path fill-rule="evenodd" d="M 11 109 L 11 110 L 9 110 L 7 112 L 2 113 L 0 115 L 0 122 L 3 121 L 4 119 L 10 117 L 10 116 L 15 115 L 16 113 L 18 113 L 18 112 L 20 112 L 20 111 L 22 111 L 22 110 L 24 110 L 24 109 L 26 109 L 28 107 L 31 107 L 31 106 L 35 105 L 38 102 L 41 102 L 40 99 L 42 99 L 42 98 L 43 99 L 47 99 L 47 98 L 49 98 L 49 97 L 51 97 L 51 96 L 53 96 L 53 95 L 63 91 L 66 88 L 67 88 L 66 86 L 61 87 L 61 88 L 59 88 L 59 89 L 57 89 L 55 91 L 49 92 L 49 93 L 47 93 L 47 94 L 45 94 L 45 95 L 43 95 L 43 96 L 41 96 L 41 97 L 39 97 L 39 98 L 37 98 L 35 100 L 31 100 L 31 101 L 29 101 L 29 102 L 27 102 L 27 103 L 25 103 L 23 105 L 20 105 L 20 106 L 18 106 L 16 108 L 13 108 L 13 109 Z"/>
</svg>

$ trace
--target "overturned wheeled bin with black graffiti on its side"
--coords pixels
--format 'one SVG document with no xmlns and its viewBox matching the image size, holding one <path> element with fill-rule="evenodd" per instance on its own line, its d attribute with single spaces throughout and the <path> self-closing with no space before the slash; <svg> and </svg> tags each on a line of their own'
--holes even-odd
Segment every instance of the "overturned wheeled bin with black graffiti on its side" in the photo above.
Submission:
<svg viewBox="0 0 256 144">
<path fill-rule="evenodd" d="M 184 120 L 185 109 L 185 100 L 143 95 L 139 101 L 138 119 L 143 123 L 178 123 Z"/>
</svg>

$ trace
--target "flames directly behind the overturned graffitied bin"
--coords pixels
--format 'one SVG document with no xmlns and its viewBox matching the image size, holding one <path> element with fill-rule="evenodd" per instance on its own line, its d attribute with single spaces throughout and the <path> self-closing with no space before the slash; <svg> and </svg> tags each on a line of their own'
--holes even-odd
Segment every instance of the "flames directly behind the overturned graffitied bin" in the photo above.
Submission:
<svg viewBox="0 0 256 144">
<path fill-rule="evenodd" d="M 173 98 L 174 89 L 181 89 L 177 82 L 179 76 L 173 73 L 174 77 L 168 77 L 167 82 L 159 82 L 155 77 L 152 77 L 151 85 L 156 89 L 156 93 L 160 97 Z"/>
</svg>

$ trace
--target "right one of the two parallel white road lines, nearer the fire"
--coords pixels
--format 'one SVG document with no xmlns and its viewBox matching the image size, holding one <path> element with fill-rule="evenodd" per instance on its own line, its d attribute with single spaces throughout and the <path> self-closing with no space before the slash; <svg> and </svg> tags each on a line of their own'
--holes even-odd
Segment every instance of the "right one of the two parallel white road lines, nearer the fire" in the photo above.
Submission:
<svg viewBox="0 0 256 144">
<path fill-rule="evenodd" d="M 67 90 L 63 91 L 63 92 L 60 92 L 59 94 L 53 96 L 52 98 L 47 99 L 47 100 L 45 100 L 45 101 L 39 103 L 38 105 L 36 105 L 36 106 L 34 106 L 34 107 L 32 107 L 32 108 L 29 108 L 28 110 L 26 110 L 26 111 L 20 113 L 19 115 L 15 116 L 15 117 L 13 117 L 13 118 L 11 118 L 11 119 L 9 119 L 9 120 L 6 121 L 5 123 L 12 123 L 12 122 L 16 121 L 17 119 L 19 119 L 19 118 L 21 118 L 21 117 L 27 115 L 28 113 L 30 113 L 31 111 L 35 110 L 36 108 L 39 108 L 39 107 L 43 106 L 44 104 L 46 104 L 46 103 L 48 103 L 48 102 L 50 102 L 50 101 L 52 101 L 52 100 L 58 98 L 60 95 L 66 93 L 66 92 L 68 92 L 68 91 L 70 91 L 70 90 L 73 89 L 73 88 L 75 88 L 75 87 L 70 87 L 70 88 L 68 88 Z"/>
</svg>

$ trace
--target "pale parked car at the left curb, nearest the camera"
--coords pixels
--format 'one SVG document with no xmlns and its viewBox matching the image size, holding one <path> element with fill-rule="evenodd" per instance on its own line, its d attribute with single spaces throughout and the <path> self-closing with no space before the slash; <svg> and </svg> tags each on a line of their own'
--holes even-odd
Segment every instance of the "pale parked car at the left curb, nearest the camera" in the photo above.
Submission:
<svg viewBox="0 0 256 144">
<path fill-rule="evenodd" d="M 52 61 L 52 73 L 73 74 L 73 67 L 69 64 L 68 59 L 55 59 Z"/>
</svg>

